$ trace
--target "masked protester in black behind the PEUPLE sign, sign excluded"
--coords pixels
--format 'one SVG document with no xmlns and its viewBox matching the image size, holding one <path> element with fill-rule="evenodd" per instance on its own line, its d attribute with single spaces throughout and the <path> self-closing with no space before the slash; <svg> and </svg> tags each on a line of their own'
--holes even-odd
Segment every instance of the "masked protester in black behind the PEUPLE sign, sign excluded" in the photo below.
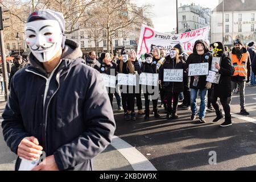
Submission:
<svg viewBox="0 0 256 182">
<path fill-rule="evenodd" d="M 167 98 L 167 118 L 177 119 L 177 104 L 179 93 L 183 92 L 183 82 L 164 81 L 164 69 L 185 69 L 185 61 L 179 56 L 179 49 L 172 48 L 170 55 L 166 56 L 163 67 L 159 71 L 159 83 L 163 86 L 165 97 Z M 173 98 L 173 105 L 172 105 Z"/>
</svg>

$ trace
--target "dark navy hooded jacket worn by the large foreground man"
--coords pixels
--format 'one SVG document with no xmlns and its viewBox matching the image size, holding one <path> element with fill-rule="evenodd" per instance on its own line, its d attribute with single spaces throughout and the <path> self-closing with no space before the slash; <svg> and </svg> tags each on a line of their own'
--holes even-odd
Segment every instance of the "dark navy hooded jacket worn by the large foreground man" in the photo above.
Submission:
<svg viewBox="0 0 256 182">
<path fill-rule="evenodd" d="M 30 53 L 31 65 L 12 78 L 2 128 L 15 154 L 23 138 L 34 136 L 60 170 L 92 170 L 93 158 L 110 144 L 115 121 L 104 82 L 80 56 L 79 44 L 67 39 L 50 76 Z"/>
</svg>

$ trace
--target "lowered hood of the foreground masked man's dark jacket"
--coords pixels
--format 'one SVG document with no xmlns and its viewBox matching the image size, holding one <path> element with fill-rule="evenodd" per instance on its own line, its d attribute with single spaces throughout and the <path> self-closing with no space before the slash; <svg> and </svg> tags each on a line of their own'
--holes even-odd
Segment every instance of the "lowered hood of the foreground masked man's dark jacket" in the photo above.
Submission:
<svg viewBox="0 0 256 182">
<path fill-rule="evenodd" d="M 61 56 L 61 60 L 65 61 L 65 67 L 71 67 L 73 65 L 79 64 L 80 61 L 75 61 L 79 57 L 82 57 L 82 51 L 79 43 L 70 39 L 66 39 L 65 47 Z M 40 61 L 36 59 L 32 52 L 30 52 L 29 60 L 31 67 L 36 68 L 36 70 L 38 70 L 40 73 L 43 73 L 44 75 L 47 74 L 46 70 L 43 68 L 43 63 L 40 63 Z"/>
</svg>

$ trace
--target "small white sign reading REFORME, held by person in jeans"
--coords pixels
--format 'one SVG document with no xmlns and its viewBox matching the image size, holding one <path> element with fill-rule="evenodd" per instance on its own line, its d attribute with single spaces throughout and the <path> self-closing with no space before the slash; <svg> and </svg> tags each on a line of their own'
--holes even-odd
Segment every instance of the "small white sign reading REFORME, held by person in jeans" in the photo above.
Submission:
<svg viewBox="0 0 256 182">
<path fill-rule="evenodd" d="M 189 64 L 188 76 L 200 76 L 209 74 L 209 63 Z"/>
</svg>

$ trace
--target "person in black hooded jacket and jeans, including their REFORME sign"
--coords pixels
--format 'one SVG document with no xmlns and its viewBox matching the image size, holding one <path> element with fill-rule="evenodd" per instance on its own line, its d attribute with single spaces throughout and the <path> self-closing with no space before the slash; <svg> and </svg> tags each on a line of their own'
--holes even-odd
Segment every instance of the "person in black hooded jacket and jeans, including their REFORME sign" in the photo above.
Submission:
<svg viewBox="0 0 256 182">
<path fill-rule="evenodd" d="M 204 40 L 197 40 L 193 48 L 193 53 L 188 56 L 187 67 L 188 76 L 191 76 L 191 120 L 196 119 L 196 97 L 200 90 L 201 104 L 199 110 L 199 122 L 205 123 L 205 107 L 207 104 L 207 89 L 210 88 L 211 83 L 206 81 L 210 65 L 212 64 L 212 54 Z"/>
</svg>

